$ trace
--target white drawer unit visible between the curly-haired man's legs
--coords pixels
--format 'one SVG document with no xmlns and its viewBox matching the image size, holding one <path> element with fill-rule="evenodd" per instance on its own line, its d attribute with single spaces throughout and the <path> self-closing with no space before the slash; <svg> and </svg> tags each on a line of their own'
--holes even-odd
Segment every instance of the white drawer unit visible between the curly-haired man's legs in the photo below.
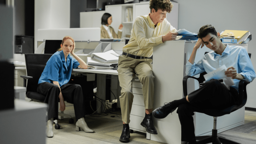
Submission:
<svg viewBox="0 0 256 144">
<path fill-rule="evenodd" d="M 144 105 L 142 84 L 140 80 L 138 79 L 132 80 L 132 93 L 134 97 L 133 97 L 132 111 L 130 114 L 130 120 L 131 120 L 131 122 L 129 123 L 130 129 L 147 133 L 147 139 L 150 139 L 150 133 L 146 132 L 146 129 L 141 126 L 141 122 L 145 117 L 145 105 Z"/>
</svg>

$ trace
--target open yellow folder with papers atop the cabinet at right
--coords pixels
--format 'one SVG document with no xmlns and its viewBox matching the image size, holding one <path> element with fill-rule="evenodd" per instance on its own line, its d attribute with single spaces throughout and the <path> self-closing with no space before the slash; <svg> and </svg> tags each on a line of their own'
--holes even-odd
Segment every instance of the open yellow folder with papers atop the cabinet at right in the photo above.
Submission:
<svg viewBox="0 0 256 144">
<path fill-rule="evenodd" d="M 238 44 L 241 44 L 250 35 L 249 31 L 245 30 L 225 30 L 222 34 L 233 34 Z"/>
</svg>

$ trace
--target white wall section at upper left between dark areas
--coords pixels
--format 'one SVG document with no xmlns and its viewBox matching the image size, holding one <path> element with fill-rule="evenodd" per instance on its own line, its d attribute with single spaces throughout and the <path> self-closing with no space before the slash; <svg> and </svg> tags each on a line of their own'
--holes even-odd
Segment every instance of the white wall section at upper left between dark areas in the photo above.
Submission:
<svg viewBox="0 0 256 144">
<path fill-rule="evenodd" d="M 70 28 L 70 0 L 35 0 L 35 51 L 37 30 Z"/>
</svg>

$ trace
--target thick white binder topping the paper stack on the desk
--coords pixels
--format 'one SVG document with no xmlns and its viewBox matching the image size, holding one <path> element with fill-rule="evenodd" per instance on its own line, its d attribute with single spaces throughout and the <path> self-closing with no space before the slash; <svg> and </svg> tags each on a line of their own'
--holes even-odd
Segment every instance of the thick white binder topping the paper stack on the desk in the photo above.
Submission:
<svg viewBox="0 0 256 144">
<path fill-rule="evenodd" d="M 111 53 L 92 53 L 91 58 L 102 63 L 118 63 L 118 57 Z"/>
</svg>

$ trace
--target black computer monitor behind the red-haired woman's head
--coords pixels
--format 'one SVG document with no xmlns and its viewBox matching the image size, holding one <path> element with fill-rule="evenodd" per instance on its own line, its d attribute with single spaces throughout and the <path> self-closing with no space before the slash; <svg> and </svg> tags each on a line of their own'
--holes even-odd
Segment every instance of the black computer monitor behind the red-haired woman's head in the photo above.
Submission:
<svg viewBox="0 0 256 144">
<path fill-rule="evenodd" d="M 54 54 L 60 48 L 62 40 L 45 40 L 45 54 Z"/>
</svg>

